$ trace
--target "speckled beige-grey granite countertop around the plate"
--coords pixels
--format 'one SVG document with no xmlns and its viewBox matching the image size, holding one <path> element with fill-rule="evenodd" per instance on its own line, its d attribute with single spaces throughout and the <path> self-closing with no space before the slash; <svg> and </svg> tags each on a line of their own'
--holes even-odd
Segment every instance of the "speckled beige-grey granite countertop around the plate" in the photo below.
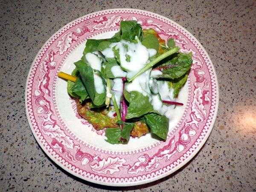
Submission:
<svg viewBox="0 0 256 192">
<path fill-rule="evenodd" d="M 0 0 L 0 191 L 256 191 L 256 3 L 248 1 Z M 70 175 L 47 157 L 25 109 L 29 68 L 65 24 L 111 8 L 151 11 L 174 20 L 204 46 L 219 83 L 209 139 L 177 172 L 140 186 L 109 187 Z"/>
</svg>

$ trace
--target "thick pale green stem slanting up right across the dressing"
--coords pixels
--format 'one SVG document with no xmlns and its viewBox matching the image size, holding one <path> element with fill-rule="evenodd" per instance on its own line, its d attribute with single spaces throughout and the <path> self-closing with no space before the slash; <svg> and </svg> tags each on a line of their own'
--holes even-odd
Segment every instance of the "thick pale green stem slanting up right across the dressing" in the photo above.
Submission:
<svg viewBox="0 0 256 192">
<path fill-rule="evenodd" d="M 142 73 L 144 73 L 146 70 L 153 67 L 155 64 L 157 64 L 159 61 L 163 60 L 164 58 L 168 57 L 169 55 L 174 54 L 179 50 L 179 47 L 174 47 L 173 49 L 170 49 L 169 51 L 166 51 L 162 55 L 155 58 L 153 61 L 149 62 L 142 70 L 140 70 L 139 73 L 137 73 L 135 76 L 133 76 L 131 79 L 128 79 L 128 82 L 133 81 L 137 76 L 140 76 Z"/>
</svg>

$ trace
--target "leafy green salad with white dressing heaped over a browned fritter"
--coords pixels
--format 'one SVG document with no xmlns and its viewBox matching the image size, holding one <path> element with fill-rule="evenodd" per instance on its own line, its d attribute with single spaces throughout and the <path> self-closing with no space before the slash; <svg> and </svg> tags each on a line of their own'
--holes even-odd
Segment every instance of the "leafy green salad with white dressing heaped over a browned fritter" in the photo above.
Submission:
<svg viewBox="0 0 256 192">
<path fill-rule="evenodd" d="M 78 113 L 95 129 L 106 128 L 108 143 L 127 143 L 130 136 L 149 132 L 166 140 L 192 64 L 190 53 L 178 51 L 174 39 L 166 44 L 154 29 L 121 21 L 112 38 L 87 40 L 71 76 L 58 76 L 68 80 Z"/>
</svg>

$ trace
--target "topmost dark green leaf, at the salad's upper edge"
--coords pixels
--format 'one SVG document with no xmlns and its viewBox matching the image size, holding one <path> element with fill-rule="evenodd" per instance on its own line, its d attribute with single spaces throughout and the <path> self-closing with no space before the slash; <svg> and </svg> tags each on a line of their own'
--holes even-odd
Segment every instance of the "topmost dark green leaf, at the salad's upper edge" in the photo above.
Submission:
<svg viewBox="0 0 256 192">
<path fill-rule="evenodd" d="M 127 40 L 127 41 L 133 41 L 135 39 L 135 36 L 139 38 L 140 41 L 142 41 L 143 38 L 143 32 L 142 27 L 140 24 L 137 23 L 136 20 L 128 20 L 128 21 L 121 21 L 120 22 L 120 35 L 121 39 Z"/>
</svg>

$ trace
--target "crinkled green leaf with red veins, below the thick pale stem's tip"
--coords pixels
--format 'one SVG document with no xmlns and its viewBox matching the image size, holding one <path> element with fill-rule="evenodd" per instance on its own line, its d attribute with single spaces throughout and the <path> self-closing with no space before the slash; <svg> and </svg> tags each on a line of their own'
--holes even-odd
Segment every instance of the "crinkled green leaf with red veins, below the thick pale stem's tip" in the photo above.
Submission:
<svg viewBox="0 0 256 192">
<path fill-rule="evenodd" d="M 175 79 L 183 76 L 190 70 L 192 64 L 192 58 L 185 53 L 178 53 L 177 56 L 167 61 L 164 64 L 156 67 L 157 70 L 162 71 L 162 75 L 156 76 L 156 78 Z"/>
</svg>

